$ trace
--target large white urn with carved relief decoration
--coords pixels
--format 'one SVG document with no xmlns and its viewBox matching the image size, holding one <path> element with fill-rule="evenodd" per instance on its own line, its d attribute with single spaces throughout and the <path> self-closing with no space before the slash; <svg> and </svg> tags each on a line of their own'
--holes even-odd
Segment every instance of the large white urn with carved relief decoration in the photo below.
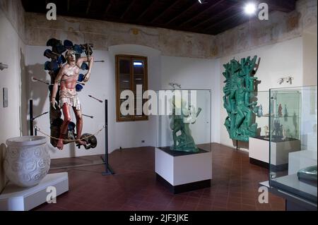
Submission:
<svg viewBox="0 0 318 225">
<path fill-rule="evenodd" d="M 35 186 L 47 175 L 51 159 L 47 138 L 23 136 L 6 140 L 4 170 L 8 179 L 21 187 Z"/>
</svg>

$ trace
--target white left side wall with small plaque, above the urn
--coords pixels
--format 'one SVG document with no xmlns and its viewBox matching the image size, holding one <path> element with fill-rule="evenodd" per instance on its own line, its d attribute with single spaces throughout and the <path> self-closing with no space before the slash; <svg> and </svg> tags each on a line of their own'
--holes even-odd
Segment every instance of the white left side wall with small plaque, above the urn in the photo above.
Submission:
<svg viewBox="0 0 318 225">
<path fill-rule="evenodd" d="M 20 60 L 24 44 L 11 22 L 0 9 L 0 62 L 8 69 L 0 71 L 0 191 L 4 187 L 2 157 L 6 139 L 20 136 Z M 3 88 L 8 88 L 8 107 L 4 108 Z"/>
</svg>

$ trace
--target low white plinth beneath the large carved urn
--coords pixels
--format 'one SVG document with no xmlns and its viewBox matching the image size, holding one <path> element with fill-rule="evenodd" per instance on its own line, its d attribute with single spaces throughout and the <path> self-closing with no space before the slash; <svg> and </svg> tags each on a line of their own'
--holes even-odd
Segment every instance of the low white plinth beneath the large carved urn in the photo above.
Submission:
<svg viewBox="0 0 318 225">
<path fill-rule="evenodd" d="M 47 202 L 49 186 L 57 189 L 57 196 L 68 191 L 68 173 L 47 174 L 37 186 L 31 188 L 21 188 L 9 182 L 0 195 L 0 211 L 27 211 Z"/>
</svg>

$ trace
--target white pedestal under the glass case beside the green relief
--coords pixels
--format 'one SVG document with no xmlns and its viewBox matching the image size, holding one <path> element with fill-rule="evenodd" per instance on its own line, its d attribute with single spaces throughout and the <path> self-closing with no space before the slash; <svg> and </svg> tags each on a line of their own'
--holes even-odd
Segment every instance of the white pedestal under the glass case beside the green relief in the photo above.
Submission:
<svg viewBox="0 0 318 225">
<path fill-rule="evenodd" d="M 300 150 L 300 140 L 286 140 L 271 142 L 271 156 L 269 156 L 269 140 L 249 138 L 249 161 L 260 166 L 269 166 L 271 157 L 272 170 L 288 169 L 288 154 Z"/>
</svg>

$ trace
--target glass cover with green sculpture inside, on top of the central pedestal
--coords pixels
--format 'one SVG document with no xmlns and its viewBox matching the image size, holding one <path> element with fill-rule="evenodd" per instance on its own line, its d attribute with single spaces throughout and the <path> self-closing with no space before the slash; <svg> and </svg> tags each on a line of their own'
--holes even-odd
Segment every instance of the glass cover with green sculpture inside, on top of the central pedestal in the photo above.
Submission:
<svg viewBox="0 0 318 225">
<path fill-rule="evenodd" d="M 160 90 L 158 106 L 158 148 L 173 154 L 211 151 L 211 90 Z"/>
</svg>

